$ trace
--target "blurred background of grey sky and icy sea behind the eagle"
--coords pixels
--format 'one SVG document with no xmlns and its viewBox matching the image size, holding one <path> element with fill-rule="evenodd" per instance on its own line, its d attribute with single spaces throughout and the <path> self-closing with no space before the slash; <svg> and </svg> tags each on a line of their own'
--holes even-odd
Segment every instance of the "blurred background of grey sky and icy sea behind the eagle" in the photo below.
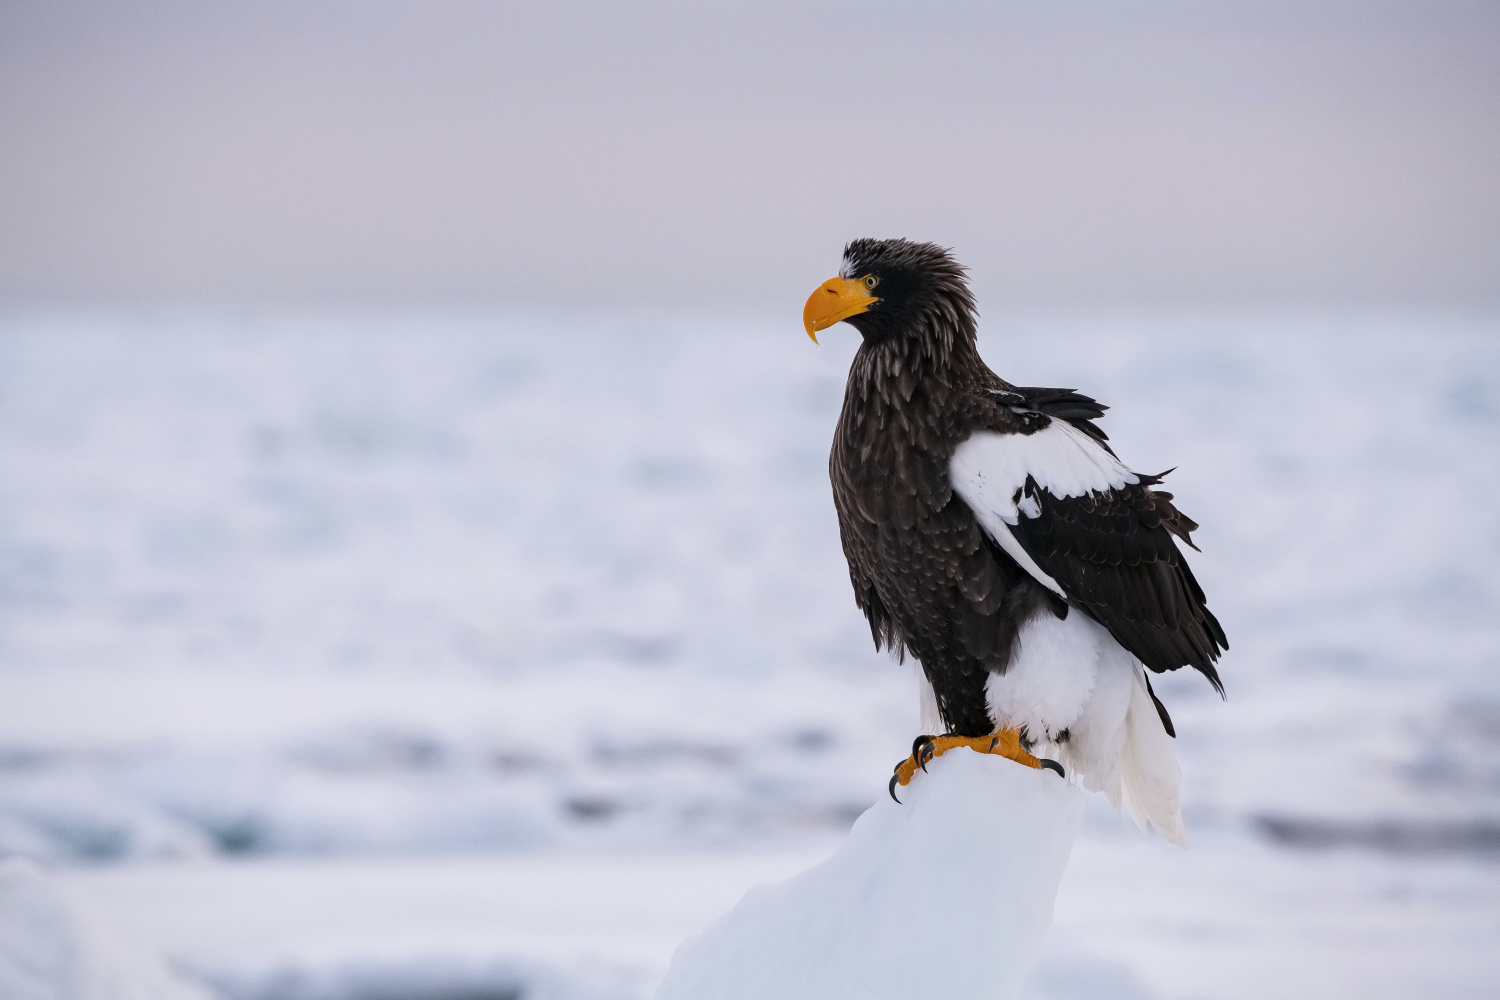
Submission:
<svg viewBox="0 0 1500 1000">
<path fill-rule="evenodd" d="M 0 856 L 153 996 L 650 996 L 916 733 L 800 325 L 908 235 L 1233 645 L 1028 1000 L 1496 996 L 1496 178 L 1486 0 L 0 1 Z"/>
</svg>

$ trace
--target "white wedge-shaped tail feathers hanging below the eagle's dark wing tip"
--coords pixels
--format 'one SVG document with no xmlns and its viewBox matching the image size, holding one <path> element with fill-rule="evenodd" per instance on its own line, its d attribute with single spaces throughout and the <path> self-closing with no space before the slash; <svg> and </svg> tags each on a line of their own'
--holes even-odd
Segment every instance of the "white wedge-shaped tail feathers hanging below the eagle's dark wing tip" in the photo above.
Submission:
<svg viewBox="0 0 1500 1000">
<path fill-rule="evenodd" d="M 1162 840 L 1186 847 L 1188 838 L 1182 829 L 1182 768 L 1140 667 L 1136 667 L 1130 709 L 1125 712 L 1125 741 L 1120 745 L 1118 775 L 1118 781 L 1110 781 L 1104 789 L 1110 805 L 1136 820 L 1140 829 L 1144 831 L 1149 825 Z"/>
</svg>

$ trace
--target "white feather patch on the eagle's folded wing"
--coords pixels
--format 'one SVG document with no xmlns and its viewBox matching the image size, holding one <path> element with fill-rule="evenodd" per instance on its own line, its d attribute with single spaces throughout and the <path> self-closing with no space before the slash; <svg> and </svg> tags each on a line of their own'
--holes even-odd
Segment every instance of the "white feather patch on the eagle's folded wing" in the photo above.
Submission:
<svg viewBox="0 0 1500 1000">
<path fill-rule="evenodd" d="M 980 526 L 1038 583 L 1066 597 L 1010 531 L 1022 516 L 1041 513 L 1036 501 L 1020 496 L 1026 477 L 1059 499 L 1116 490 L 1140 477 L 1066 420 L 1029 435 L 981 430 L 952 453 L 948 481 Z"/>
</svg>

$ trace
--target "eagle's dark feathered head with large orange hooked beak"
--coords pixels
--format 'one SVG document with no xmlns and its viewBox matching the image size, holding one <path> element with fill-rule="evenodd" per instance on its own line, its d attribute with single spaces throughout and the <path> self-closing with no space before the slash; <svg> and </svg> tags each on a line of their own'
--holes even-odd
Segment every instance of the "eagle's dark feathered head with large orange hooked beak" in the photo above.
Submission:
<svg viewBox="0 0 1500 1000">
<path fill-rule="evenodd" d="M 974 295 L 963 265 L 936 243 L 855 240 L 838 277 L 807 300 L 802 325 L 818 331 L 848 322 L 867 343 L 910 337 L 974 337 Z"/>
</svg>

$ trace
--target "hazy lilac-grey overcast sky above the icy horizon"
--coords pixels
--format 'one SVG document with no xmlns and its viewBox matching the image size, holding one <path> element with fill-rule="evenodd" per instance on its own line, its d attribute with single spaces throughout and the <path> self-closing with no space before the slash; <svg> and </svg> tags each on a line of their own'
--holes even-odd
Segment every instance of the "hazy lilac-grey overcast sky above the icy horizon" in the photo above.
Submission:
<svg viewBox="0 0 1500 1000">
<path fill-rule="evenodd" d="M 0 294 L 1500 300 L 1500 3 L 0 0 Z"/>
</svg>

